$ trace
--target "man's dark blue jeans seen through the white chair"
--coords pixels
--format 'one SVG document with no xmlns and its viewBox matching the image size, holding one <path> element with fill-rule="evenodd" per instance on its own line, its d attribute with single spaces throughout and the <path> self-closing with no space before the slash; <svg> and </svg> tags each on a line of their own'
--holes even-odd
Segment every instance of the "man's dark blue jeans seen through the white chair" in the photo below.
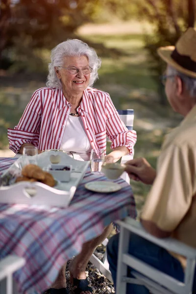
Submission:
<svg viewBox="0 0 196 294">
<path fill-rule="evenodd" d="M 118 244 L 119 234 L 113 236 L 107 245 L 107 258 L 115 287 L 117 278 Z M 161 270 L 164 273 L 169 274 L 179 281 L 184 280 L 184 271 L 180 262 L 167 250 L 147 241 L 146 239 L 143 239 L 135 234 L 131 234 L 129 242 L 129 253 L 156 268 L 157 270 Z M 130 267 L 128 267 L 127 276 L 133 277 Z M 196 271 L 193 289 L 193 293 L 195 293 Z M 149 291 L 145 286 L 127 283 L 126 294 L 149 294 Z"/>
</svg>

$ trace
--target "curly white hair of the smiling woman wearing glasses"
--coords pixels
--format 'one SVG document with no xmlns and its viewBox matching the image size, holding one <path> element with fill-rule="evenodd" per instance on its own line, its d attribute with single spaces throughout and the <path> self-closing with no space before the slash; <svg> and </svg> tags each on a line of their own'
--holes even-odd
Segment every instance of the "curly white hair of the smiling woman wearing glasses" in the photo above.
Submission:
<svg viewBox="0 0 196 294">
<path fill-rule="evenodd" d="M 64 65 L 64 58 L 66 56 L 82 56 L 88 58 L 89 66 L 93 69 L 90 73 L 89 85 L 93 86 L 98 78 L 98 69 L 101 65 L 101 60 L 95 49 L 89 47 L 86 43 L 78 39 L 68 39 L 65 42 L 58 44 L 51 50 L 51 63 L 49 63 L 49 74 L 47 77 L 47 86 L 50 88 L 62 89 L 61 80 L 57 78 L 55 67 Z"/>
</svg>

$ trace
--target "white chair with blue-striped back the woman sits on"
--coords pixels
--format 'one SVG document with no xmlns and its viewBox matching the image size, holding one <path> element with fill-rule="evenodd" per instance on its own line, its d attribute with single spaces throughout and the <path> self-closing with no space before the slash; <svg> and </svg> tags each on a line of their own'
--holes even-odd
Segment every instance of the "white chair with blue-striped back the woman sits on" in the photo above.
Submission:
<svg viewBox="0 0 196 294">
<path fill-rule="evenodd" d="M 121 120 L 123 121 L 123 123 L 125 124 L 125 126 L 128 128 L 128 130 L 132 130 L 133 129 L 133 121 L 134 121 L 134 110 L 133 109 L 126 109 L 126 110 L 118 110 L 118 113 L 120 115 Z M 109 142 L 109 140 L 107 140 Z M 122 157 L 121 159 L 121 163 L 125 163 L 128 160 L 133 159 L 133 154 L 131 155 L 125 155 Z M 130 183 L 130 179 L 129 176 L 126 172 L 123 172 L 123 174 L 121 175 L 121 177 L 123 178 L 123 180 L 125 180 L 128 184 Z M 108 239 L 106 238 L 102 245 L 106 246 L 108 243 Z M 98 270 L 100 270 L 108 280 L 110 280 L 113 283 L 112 280 L 112 275 L 111 275 L 111 271 L 109 270 L 109 263 L 107 261 L 107 253 L 105 251 L 104 257 L 103 257 L 103 261 L 101 262 L 98 257 L 93 254 L 90 258 L 90 262 L 92 262 L 92 264 L 98 268 Z"/>
</svg>

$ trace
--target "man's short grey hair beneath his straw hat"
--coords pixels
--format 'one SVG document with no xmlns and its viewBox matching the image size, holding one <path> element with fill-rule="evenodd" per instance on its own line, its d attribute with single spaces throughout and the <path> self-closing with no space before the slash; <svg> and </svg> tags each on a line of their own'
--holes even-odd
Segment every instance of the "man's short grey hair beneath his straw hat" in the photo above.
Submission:
<svg viewBox="0 0 196 294">
<path fill-rule="evenodd" d="M 174 69 L 172 66 L 168 66 L 167 74 L 178 75 L 185 83 L 185 87 L 187 91 L 189 92 L 191 98 L 194 98 L 196 101 L 196 78 L 188 76 L 184 73 L 180 73 L 176 69 Z"/>
</svg>

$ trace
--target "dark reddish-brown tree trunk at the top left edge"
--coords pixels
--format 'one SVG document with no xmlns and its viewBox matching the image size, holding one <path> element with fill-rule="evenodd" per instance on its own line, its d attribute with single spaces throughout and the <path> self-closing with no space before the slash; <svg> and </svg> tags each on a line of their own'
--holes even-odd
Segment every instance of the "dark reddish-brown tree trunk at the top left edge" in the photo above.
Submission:
<svg viewBox="0 0 196 294">
<path fill-rule="evenodd" d="M 7 43 L 7 29 L 10 23 L 11 0 L 1 0 L 0 1 L 0 59 L 2 50 L 5 48 Z"/>
</svg>

